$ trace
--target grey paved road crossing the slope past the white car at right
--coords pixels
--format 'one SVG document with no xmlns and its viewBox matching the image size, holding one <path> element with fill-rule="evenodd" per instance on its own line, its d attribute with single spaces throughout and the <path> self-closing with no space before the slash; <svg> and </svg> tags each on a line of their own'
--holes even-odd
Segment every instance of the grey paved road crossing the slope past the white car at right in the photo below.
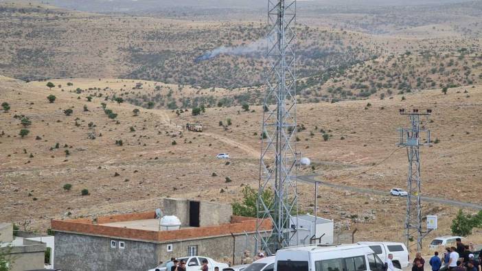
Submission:
<svg viewBox="0 0 482 271">
<path fill-rule="evenodd" d="M 354 191 L 359 193 L 371 193 L 371 194 L 380 195 L 380 196 L 389 195 L 387 191 L 380 191 L 380 190 L 360 188 L 360 187 L 349 187 L 347 185 L 336 185 L 334 183 L 318 180 L 316 177 L 317 177 L 316 175 L 297 176 L 298 180 L 301 180 L 303 182 L 318 182 L 320 185 L 324 185 L 326 187 L 332 187 L 336 189 L 343 189 L 343 190 Z M 459 202 L 456 200 L 446 200 L 444 198 L 431 198 L 431 197 L 424 197 L 424 196 L 422 196 L 422 200 L 426 202 L 436 202 L 436 203 L 446 204 L 446 205 L 451 205 L 456 207 L 465 207 L 465 208 L 471 208 L 471 209 L 477 209 L 477 210 L 482 209 L 481 204 L 475 204 L 471 202 Z"/>
</svg>

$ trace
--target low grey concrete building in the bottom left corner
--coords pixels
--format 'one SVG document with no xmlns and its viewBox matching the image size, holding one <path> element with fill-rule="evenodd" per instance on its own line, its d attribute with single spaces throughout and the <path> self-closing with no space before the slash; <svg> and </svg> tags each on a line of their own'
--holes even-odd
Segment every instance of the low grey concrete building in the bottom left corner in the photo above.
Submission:
<svg viewBox="0 0 482 271">
<path fill-rule="evenodd" d="M 12 271 L 44 268 L 45 244 L 13 236 L 12 223 L 0 223 L 0 252 Z"/>
</svg>

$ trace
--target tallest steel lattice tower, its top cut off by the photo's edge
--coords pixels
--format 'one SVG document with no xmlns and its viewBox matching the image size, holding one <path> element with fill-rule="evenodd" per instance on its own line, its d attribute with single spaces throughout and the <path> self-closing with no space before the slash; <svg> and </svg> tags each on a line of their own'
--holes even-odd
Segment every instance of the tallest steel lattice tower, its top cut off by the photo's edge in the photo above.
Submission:
<svg viewBox="0 0 482 271">
<path fill-rule="evenodd" d="M 290 245 L 290 217 L 297 215 L 296 0 L 268 0 L 266 93 L 262 122 L 257 244 L 272 255 Z M 263 197 L 273 192 L 273 200 Z M 270 221 L 272 231 L 262 222 Z"/>
</svg>

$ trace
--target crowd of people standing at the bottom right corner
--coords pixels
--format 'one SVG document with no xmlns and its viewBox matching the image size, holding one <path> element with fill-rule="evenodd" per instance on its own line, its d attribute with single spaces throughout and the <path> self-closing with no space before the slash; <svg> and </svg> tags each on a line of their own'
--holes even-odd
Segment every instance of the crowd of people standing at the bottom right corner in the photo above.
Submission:
<svg viewBox="0 0 482 271">
<path fill-rule="evenodd" d="M 446 248 L 444 255 L 439 256 L 439 252 L 436 251 L 428 264 L 430 264 L 432 271 L 441 269 L 448 271 L 482 271 L 482 255 L 479 255 L 479 259 L 475 259 L 473 251 L 473 244 L 466 246 L 460 238 L 457 238 L 456 246 Z M 387 263 L 387 266 L 389 271 L 393 271 L 393 269 L 390 270 L 390 263 Z M 420 252 L 417 252 L 415 259 L 413 259 L 412 271 L 424 271 L 424 266 L 425 260 Z"/>
</svg>

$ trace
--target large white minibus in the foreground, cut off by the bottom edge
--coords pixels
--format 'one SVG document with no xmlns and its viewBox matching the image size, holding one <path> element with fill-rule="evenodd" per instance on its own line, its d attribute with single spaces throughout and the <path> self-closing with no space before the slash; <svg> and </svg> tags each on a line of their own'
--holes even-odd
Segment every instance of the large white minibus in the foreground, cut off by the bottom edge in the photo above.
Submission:
<svg viewBox="0 0 482 271">
<path fill-rule="evenodd" d="M 382 271 L 385 263 L 369 246 L 299 246 L 276 252 L 275 271 Z"/>
</svg>

